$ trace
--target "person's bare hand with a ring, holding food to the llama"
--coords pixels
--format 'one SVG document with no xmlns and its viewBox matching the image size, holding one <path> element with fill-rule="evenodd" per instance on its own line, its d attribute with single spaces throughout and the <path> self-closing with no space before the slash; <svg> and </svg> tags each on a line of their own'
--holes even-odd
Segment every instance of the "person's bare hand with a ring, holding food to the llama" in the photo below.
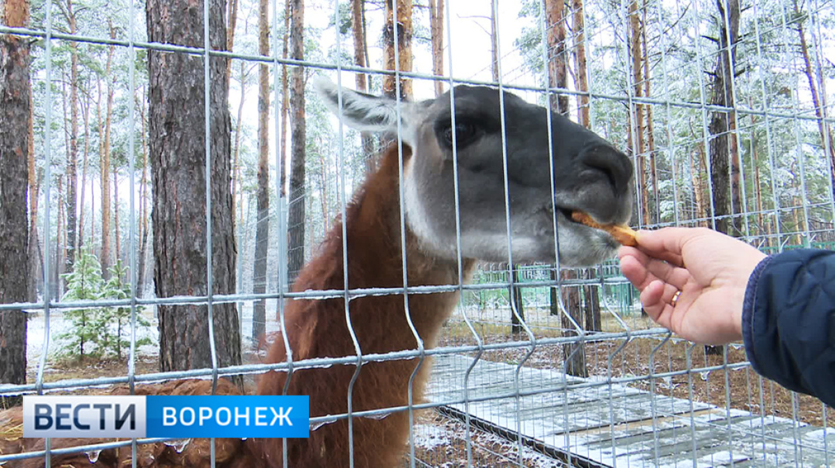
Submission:
<svg viewBox="0 0 835 468">
<path fill-rule="evenodd" d="M 665 228 L 639 231 L 638 247 L 621 247 L 618 257 L 658 325 L 704 345 L 742 339 L 748 278 L 766 257 L 759 250 L 711 229 Z"/>
</svg>

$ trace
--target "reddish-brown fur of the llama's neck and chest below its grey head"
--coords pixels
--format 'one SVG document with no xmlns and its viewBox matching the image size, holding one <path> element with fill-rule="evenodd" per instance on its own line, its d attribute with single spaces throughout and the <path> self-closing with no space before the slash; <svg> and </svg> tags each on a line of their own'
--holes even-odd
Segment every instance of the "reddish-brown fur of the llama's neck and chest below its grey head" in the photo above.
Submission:
<svg viewBox="0 0 835 468">
<path fill-rule="evenodd" d="M 404 148 L 403 158 L 409 153 Z M 382 164 L 364 184 L 347 209 L 347 259 L 349 288 L 402 287 L 401 224 L 397 148 L 383 155 Z M 342 225 L 328 234 L 316 259 L 302 269 L 294 290 L 343 289 Z M 408 284 L 458 284 L 457 263 L 437 259 L 406 234 Z M 464 271 L 472 270 L 466 261 Z M 456 293 L 409 294 L 412 322 L 427 347 L 432 347 L 438 330 L 458 301 Z M 362 354 L 417 349 L 407 325 L 402 294 L 352 299 L 350 314 Z M 285 311 L 287 335 L 293 360 L 356 355 L 345 320 L 343 299 L 289 301 Z M 286 360 L 281 340 L 269 352 L 269 362 Z M 407 405 L 408 381 L 417 366 L 414 360 L 389 360 L 362 365 L 352 393 L 352 410 L 373 410 Z M 415 379 L 413 395 L 419 401 L 428 377 L 428 361 Z M 347 413 L 348 385 L 355 365 L 334 365 L 327 369 L 297 370 L 289 394 L 310 395 L 311 417 Z M 261 378 L 260 395 L 280 395 L 285 372 L 271 372 Z M 353 460 L 357 467 L 397 465 L 409 432 L 407 412 L 382 420 L 353 419 Z M 265 465 L 281 466 L 280 440 L 254 440 Z M 291 466 L 347 466 L 349 460 L 347 420 L 312 430 L 310 438 L 288 440 Z"/>
</svg>

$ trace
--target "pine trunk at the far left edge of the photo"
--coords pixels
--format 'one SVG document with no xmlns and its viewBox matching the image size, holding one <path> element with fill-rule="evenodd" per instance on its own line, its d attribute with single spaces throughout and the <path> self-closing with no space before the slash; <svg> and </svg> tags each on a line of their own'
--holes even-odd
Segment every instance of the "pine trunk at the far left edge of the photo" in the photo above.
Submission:
<svg viewBox="0 0 835 468">
<path fill-rule="evenodd" d="M 27 0 L 7 0 L 3 10 L 0 23 L 28 26 Z M 0 304 L 29 299 L 29 40 L 0 36 Z M 23 311 L 0 310 L 0 383 L 26 383 L 26 328 Z"/>
</svg>

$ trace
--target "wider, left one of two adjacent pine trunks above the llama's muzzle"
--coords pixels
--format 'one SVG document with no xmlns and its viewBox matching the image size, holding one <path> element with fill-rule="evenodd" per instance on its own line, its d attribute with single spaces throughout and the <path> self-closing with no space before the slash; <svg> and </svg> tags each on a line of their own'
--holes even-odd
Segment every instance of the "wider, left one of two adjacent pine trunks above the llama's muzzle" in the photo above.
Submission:
<svg viewBox="0 0 835 468">
<path fill-rule="evenodd" d="M 567 88 L 566 75 L 568 58 L 565 54 L 565 0 L 545 0 L 545 24 L 548 28 L 548 87 Z M 568 115 L 569 97 L 548 93 L 549 103 L 554 112 Z"/>
</svg>

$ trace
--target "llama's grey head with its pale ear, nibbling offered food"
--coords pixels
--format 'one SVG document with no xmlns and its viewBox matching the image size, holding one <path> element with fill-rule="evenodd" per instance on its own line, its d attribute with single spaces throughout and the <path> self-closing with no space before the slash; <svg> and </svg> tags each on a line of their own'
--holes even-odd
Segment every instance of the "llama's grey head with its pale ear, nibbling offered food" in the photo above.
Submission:
<svg viewBox="0 0 835 468">
<path fill-rule="evenodd" d="M 397 103 L 391 98 L 339 88 L 326 78 L 316 89 L 348 126 L 397 133 Z M 339 98 L 342 98 L 342 111 Z M 412 148 L 403 168 L 406 221 L 423 248 L 456 258 L 453 125 L 458 157 L 458 194 L 463 258 L 508 261 L 503 131 L 499 91 L 456 86 L 421 102 L 399 103 L 399 135 Z M 559 261 L 564 266 L 599 263 L 615 254 L 609 234 L 570 219 L 581 210 L 601 224 L 629 220 L 630 160 L 597 134 L 556 113 L 548 126 L 545 108 L 504 93 L 510 232 L 514 263 L 553 263 L 554 216 Z M 552 150 L 549 151 L 549 132 Z M 553 160 L 553 184 L 551 179 Z"/>
</svg>

